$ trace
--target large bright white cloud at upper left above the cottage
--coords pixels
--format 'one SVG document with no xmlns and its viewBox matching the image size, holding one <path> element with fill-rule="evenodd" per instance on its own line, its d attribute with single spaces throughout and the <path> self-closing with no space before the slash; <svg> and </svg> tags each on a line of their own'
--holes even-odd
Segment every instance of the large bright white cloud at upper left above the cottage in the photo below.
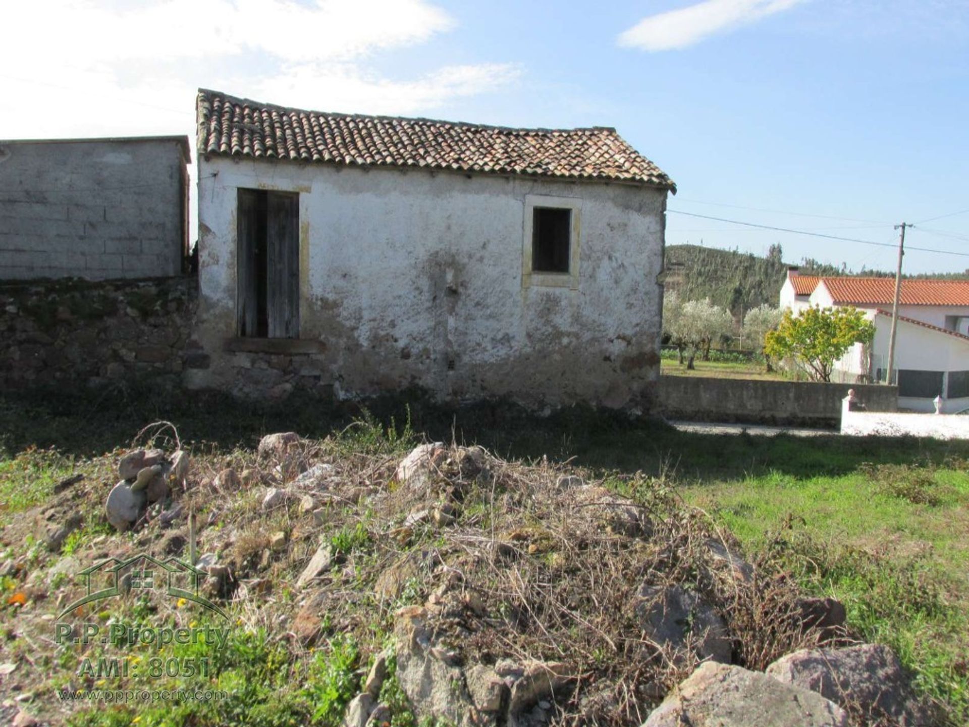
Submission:
<svg viewBox="0 0 969 727">
<path fill-rule="evenodd" d="M 0 30 L 0 134 L 191 132 L 199 86 L 305 108 L 412 113 L 516 79 L 508 63 L 401 79 L 370 62 L 455 25 L 432 0 L 15 3 Z"/>
</svg>

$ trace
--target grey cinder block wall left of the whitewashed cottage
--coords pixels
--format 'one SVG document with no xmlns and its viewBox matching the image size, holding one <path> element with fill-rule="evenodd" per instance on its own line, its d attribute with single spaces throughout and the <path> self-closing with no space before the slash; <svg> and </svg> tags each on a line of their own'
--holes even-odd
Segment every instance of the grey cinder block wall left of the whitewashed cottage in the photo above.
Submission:
<svg viewBox="0 0 969 727">
<path fill-rule="evenodd" d="M 179 275 L 187 137 L 0 141 L 0 279 Z"/>
</svg>

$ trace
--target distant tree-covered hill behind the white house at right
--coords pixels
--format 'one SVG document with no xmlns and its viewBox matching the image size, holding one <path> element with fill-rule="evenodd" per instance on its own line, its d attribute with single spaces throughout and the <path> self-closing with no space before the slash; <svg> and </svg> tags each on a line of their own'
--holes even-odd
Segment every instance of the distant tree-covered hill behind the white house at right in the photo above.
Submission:
<svg viewBox="0 0 969 727">
<path fill-rule="evenodd" d="M 741 310 L 763 303 L 777 305 L 787 269 L 780 245 L 773 245 L 766 258 L 738 250 L 721 250 L 701 245 L 670 245 L 666 249 L 666 290 L 677 292 L 683 300 L 709 298 L 714 305 L 728 308 L 739 321 Z M 802 275 L 867 275 L 893 277 L 893 270 L 861 269 L 855 272 L 805 258 L 797 267 Z M 962 273 L 905 275 L 920 278 L 969 278 Z"/>
</svg>

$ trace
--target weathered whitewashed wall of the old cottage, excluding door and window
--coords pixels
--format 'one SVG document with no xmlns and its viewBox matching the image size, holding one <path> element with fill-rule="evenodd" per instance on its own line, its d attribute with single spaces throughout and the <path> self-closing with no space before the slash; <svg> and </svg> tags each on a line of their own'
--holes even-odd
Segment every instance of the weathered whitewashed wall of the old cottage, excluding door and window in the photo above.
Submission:
<svg viewBox="0 0 969 727">
<path fill-rule="evenodd" d="M 223 353 L 235 327 L 236 189 L 250 187 L 300 194 L 300 338 L 325 350 L 294 356 L 338 393 L 413 384 L 449 398 L 651 405 L 665 191 L 218 157 L 200 160 L 199 179 L 195 340 L 212 365 L 190 386 L 261 385 L 247 372 L 258 356 Z M 529 195 L 578 202 L 577 289 L 526 284 Z"/>
</svg>

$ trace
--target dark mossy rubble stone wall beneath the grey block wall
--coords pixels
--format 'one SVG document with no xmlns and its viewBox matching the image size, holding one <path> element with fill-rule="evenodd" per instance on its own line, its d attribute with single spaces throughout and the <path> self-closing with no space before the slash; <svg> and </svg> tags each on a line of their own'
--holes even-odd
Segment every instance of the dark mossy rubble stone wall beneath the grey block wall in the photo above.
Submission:
<svg viewBox="0 0 969 727">
<path fill-rule="evenodd" d="M 0 285 L 0 382 L 176 385 L 186 366 L 206 364 L 189 344 L 195 306 L 194 277 Z"/>
</svg>

